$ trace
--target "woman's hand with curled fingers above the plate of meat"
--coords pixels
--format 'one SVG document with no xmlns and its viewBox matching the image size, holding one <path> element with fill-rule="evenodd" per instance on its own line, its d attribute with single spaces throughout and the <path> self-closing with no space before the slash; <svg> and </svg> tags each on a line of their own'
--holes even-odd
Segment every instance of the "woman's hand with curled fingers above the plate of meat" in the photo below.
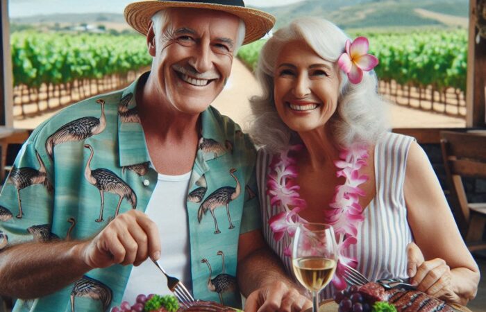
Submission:
<svg viewBox="0 0 486 312">
<path fill-rule="evenodd" d="M 417 286 L 419 291 L 446 302 L 460 302 L 460 297 L 452 290 L 451 268 L 444 259 L 425 261 L 419 246 L 410 243 L 407 246 L 407 260 L 410 284 Z"/>
</svg>

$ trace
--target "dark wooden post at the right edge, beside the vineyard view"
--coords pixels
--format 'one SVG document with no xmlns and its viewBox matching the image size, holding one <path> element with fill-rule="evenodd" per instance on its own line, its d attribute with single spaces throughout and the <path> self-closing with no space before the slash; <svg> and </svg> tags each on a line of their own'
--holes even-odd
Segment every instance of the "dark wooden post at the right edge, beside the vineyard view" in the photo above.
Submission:
<svg viewBox="0 0 486 312">
<path fill-rule="evenodd" d="M 476 8 L 480 0 L 469 0 L 469 45 L 467 54 L 466 126 L 486 127 L 486 38 L 476 44 Z"/>
</svg>

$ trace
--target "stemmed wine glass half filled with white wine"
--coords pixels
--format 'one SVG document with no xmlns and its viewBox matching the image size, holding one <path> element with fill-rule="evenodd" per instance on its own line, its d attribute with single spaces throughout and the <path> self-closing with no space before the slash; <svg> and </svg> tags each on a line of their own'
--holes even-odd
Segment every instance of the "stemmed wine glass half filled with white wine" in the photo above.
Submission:
<svg viewBox="0 0 486 312">
<path fill-rule="evenodd" d="M 319 292 L 333 279 L 337 266 L 334 229 L 323 223 L 303 223 L 295 232 L 292 268 L 312 293 L 312 312 L 319 311 Z"/>
</svg>

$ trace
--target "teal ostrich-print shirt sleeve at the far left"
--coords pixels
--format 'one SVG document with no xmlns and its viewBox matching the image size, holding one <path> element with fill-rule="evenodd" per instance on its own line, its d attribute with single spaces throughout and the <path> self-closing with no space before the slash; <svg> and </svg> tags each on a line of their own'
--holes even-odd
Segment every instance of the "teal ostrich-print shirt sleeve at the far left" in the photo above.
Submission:
<svg viewBox="0 0 486 312">
<path fill-rule="evenodd" d="M 53 183 L 51 159 L 31 135 L 15 159 L 0 193 L 0 248 L 47 241 L 51 234 Z"/>
</svg>

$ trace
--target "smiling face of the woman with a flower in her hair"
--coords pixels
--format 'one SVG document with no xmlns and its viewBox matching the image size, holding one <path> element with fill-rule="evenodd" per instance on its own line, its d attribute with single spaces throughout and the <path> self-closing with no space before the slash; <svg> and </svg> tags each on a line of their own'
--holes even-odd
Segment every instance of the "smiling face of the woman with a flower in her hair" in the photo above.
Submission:
<svg viewBox="0 0 486 312">
<path fill-rule="evenodd" d="M 274 96 L 280 119 L 296 132 L 324 128 L 337 107 L 337 63 L 321 58 L 303 40 L 295 40 L 283 46 L 275 68 Z"/>
</svg>

